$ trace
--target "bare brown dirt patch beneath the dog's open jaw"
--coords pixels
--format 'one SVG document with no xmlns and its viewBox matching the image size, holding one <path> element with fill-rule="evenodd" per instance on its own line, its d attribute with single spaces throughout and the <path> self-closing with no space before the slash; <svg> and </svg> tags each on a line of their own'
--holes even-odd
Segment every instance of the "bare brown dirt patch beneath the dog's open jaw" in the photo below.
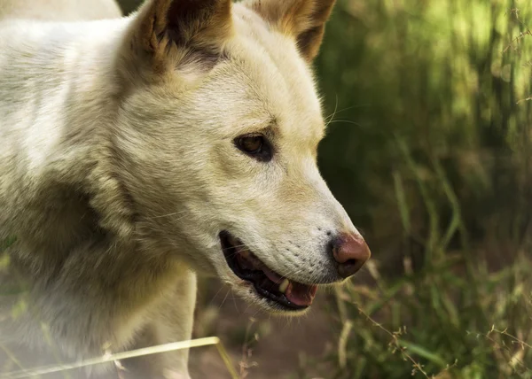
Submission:
<svg viewBox="0 0 532 379">
<path fill-rule="evenodd" d="M 195 336 L 222 338 L 238 370 L 242 363 L 249 367 L 241 372 L 249 379 L 296 378 L 301 366 L 305 367 L 305 377 L 317 377 L 304 362 L 323 360 L 333 348 L 334 336 L 340 333 L 325 317 L 325 294 L 318 294 L 307 315 L 286 319 L 258 312 L 233 297 L 227 288 L 214 296 L 206 292 L 202 298 L 207 305 L 199 306 Z M 246 341 L 251 344 L 246 345 Z M 251 349 L 248 358 L 246 347 Z M 190 367 L 192 378 L 231 379 L 215 347 L 193 349 Z"/>
</svg>

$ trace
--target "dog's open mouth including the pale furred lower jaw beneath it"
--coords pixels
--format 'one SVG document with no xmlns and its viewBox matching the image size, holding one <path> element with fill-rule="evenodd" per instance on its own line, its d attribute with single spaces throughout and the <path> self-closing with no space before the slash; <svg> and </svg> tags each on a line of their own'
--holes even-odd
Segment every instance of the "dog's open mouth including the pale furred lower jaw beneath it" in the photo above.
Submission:
<svg viewBox="0 0 532 379">
<path fill-rule="evenodd" d="M 248 302 L 271 313 L 305 313 L 316 296 L 317 285 L 295 282 L 278 275 L 253 251 L 229 232 L 220 233 L 220 243 L 232 275 L 235 290 Z"/>
</svg>

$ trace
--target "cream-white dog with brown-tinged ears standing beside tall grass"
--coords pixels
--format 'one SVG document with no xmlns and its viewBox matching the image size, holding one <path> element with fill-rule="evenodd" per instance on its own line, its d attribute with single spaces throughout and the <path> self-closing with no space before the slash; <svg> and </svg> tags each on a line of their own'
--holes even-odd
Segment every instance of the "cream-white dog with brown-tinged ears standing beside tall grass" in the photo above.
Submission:
<svg viewBox="0 0 532 379">
<path fill-rule="evenodd" d="M 0 284 L 22 290 L 0 307 L 25 301 L 4 335 L 45 348 L 45 325 L 71 359 L 182 341 L 197 273 L 299 315 L 364 265 L 370 250 L 317 168 L 311 66 L 333 4 L 147 0 L 127 18 L 4 17 L 0 241 L 14 243 Z M 165 353 L 127 372 L 189 378 L 187 361 Z"/>
</svg>

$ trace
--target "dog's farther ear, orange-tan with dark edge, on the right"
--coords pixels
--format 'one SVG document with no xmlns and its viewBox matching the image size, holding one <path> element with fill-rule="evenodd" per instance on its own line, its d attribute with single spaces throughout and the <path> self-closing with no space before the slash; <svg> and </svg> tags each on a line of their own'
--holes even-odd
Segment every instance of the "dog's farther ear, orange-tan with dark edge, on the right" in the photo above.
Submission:
<svg viewBox="0 0 532 379">
<path fill-rule="evenodd" d="M 335 0 L 246 0 L 270 26 L 296 39 L 303 58 L 316 58 Z"/>
</svg>

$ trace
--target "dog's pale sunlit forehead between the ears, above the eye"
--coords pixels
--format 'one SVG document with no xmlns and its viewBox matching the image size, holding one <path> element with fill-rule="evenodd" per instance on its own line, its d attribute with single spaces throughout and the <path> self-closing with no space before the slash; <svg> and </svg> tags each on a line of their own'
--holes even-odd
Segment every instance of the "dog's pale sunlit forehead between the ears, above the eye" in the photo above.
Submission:
<svg viewBox="0 0 532 379">
<path fill-rule="evenodd" d="M 282 133 L 308 136 L 310 143 L 324 135 L 325 124 L 312 73 L 292 39 L 270 30 L 245 5 L 233 8 L 239 68 L 246 72 L 256 100 L 278 120 Z M 231 51 L 230 51 L 231 54 Z"/>
</svg>

